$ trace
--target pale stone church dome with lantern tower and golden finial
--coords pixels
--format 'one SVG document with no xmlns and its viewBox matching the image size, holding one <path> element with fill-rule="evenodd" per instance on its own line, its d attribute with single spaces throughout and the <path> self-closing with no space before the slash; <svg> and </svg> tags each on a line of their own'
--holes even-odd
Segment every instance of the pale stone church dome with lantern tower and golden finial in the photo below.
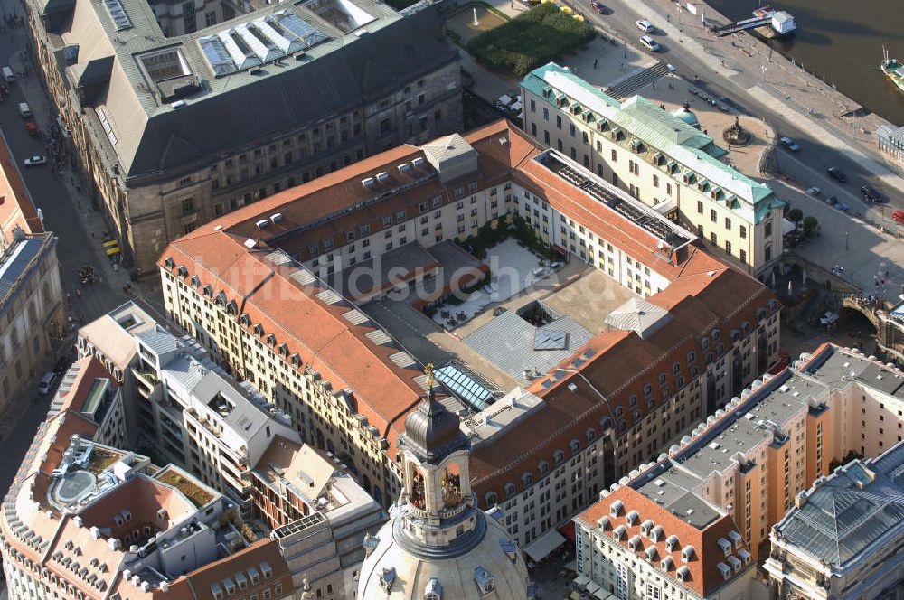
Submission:
<svg viewBox="0 0 904 600">
<path fill-rule="evenodd" d="M 364 540 L 357 600 L 526 600 L 527 566 L 496 518 L 476 509 L 470 443 L 458 417 L 428 394 L 405 418 L 404 491 L 390 520 Z M 495 517 L 495 518 L 494 518 Z"/>
</svg>

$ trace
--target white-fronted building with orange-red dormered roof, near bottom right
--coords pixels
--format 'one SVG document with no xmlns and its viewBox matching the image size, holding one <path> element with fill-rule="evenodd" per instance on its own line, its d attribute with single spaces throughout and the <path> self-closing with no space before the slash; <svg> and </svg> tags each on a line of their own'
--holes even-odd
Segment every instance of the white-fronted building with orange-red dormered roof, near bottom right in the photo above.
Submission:
<svg viewBox="0 0 904 600">
<path fill-rule="evenodd" d="M 575 518 L 579 577 L 591 597 L 753 597 L 752 555 L 730 514 L 687 494 L 666 509 L 629 486 Z"/>
</svg>

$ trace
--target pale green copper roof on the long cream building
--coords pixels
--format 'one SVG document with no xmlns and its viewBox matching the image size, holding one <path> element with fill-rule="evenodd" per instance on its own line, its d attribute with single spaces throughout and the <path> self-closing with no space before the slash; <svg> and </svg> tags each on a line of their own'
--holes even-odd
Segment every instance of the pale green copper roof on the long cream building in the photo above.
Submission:
<svg viewBox="0 0 904 600">
<path fill-rule="evenodd" d="M 690 170 L 698 178 L 709 180 L 712 186 L 720 187 L 726 195 L 737 196 L 739 210 L 749 211 L 749 217 L 755 217 L 755 222 L 765 216 L 769 208 L 785 203 L 778 200 L 767 185 L 755 182 L 729 164 L 722 163 L 720 157 L 728 152 L 716 145 L 710 136 L 685 122 L 683 117 L 659 108 L 646 98 L 635 96 L 619 103 L 554 62 L 532 70 L 521 85 L 552 105 L 555 105 L 556 98 L 563 95 L 569 98 L 571 104 L 578 102 L 597 114 L 599 120 L 608 121 L 613 129 L 621 128 L 645 145 L 677 161 L 683 165 L 683 171 Z M 755 210 L 751 211 L 754 207 Z"/>
</svg>

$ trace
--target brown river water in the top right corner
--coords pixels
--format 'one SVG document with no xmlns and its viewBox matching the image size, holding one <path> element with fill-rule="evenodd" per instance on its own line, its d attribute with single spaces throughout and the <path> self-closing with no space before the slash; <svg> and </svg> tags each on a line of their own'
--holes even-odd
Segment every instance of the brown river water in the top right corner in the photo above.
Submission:
<svg viewBox="0 0 904 600">
<path fill-rule="evenodd" d="M 739 21 L 765 0 L 706 0 Z M 793 14 L 796 35 L 769 42 L 778 52 L 892 124 L 904 125 L 904 92 L 879 70 L 882 44 L 904 61 L 904 3 L 901 0 L 777 0 L 777 10 Z"/>
</svg>

